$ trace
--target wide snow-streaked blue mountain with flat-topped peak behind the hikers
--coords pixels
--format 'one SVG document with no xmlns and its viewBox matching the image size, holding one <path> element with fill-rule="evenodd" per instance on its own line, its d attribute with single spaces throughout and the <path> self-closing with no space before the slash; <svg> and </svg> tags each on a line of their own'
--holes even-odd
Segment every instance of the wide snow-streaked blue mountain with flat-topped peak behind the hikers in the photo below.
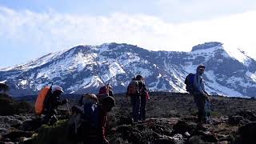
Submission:
<svg viewBox="0 0 256 144">
<path fill-rule="evenodd" d="M 198 64 L 206 66 L 206 90 L 228 96 L 256 96 L 256 62 L 240 51 L 237 59 L 220 42 L 194 46 L 190 52 L 150 51 L 138 46 L 108 43 L 75 46 L 47 54 L 26 64 L 3 68 L 0 81 L 7 81 L 10 94 L 37 94 L 50 82 L 66 93 L 98 91 L 106 83 L 114 92 L 125 92 L 134 74 L 146 78 L 150 90 L 186 92 L 184 79 Z"/>
</svg>

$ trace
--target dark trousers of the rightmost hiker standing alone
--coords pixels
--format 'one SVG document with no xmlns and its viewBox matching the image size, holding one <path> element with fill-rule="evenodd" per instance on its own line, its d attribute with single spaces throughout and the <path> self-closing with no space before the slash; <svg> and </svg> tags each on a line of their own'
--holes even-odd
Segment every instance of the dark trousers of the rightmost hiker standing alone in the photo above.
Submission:
<svg viewBox="0 0 256 144">
<path fill-rule="evenodd" d="M 198 107 L 198 122 L 205 121 L 205 104 L 206 98 L 202 94 L 194 94 L 194 102 Z"/>
</svg>

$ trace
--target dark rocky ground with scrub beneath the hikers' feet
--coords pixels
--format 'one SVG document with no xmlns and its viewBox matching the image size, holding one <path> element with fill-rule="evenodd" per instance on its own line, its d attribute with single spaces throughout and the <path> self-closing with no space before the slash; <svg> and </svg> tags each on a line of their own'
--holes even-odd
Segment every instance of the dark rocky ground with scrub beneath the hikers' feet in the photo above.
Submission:
<svg viewBox="0 0 256 144">
<path fill-rule="evenodd" d="M 198 126 L 197 110 L 190 94 L 153 93 L 147 103 L 145 122 L 133 123 L 130 102 L 115 96 L 117 106 L 109 114 L 110 143 L 254 143 L 256 100 L 254 98 L 210 99 L 212 123 Z M 0 99 L 1 100 L 1 99 Z M 75 103 L 77 98 L 70 98 Z M 71 105 L 71 104 L 70 104 Z M 74 143 L 67 140 L 68 112 L 61 107 L 60 121 L 40 126 L 40 118 L 26 111 L 0 116 L 1 143 Z M 31 110 L 30 110 L 31 111 Z M 17 110 L 16 110 L 17 112 Z"/>
</svg>

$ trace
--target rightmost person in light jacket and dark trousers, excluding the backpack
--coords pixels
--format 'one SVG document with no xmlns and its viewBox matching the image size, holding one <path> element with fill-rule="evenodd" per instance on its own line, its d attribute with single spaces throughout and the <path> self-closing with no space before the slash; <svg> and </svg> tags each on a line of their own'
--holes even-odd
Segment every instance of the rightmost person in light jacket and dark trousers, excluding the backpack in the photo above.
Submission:
<svg viewBox="0 0 256 144">
<path fill-rule="evenodd" d="M 194 102 L 196 103 L 198 107 L 198 122 L 205 122 L 205 103 L 206 100 L 209 101 L 208 94 L 205 90 L 205 84 L 204 80 L 202 79 L 202 74 L 204 73 L 204 70 L 206 69 L 206 66 L 203 66 L 202 64 L 197 67 L 197 73 L 194 75 Z"/>
</svg>

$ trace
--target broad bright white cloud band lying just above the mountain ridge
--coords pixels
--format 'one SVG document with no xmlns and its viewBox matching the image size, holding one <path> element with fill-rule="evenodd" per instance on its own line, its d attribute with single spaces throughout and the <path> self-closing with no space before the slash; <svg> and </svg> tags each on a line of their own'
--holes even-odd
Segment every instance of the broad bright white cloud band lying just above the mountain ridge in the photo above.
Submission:
<svg viewBox="0 0 256 144">
<path fill-rule="evenodd" d="M 0 7 L 0 42 L 10 43 L 17 50 L 37 49 L 46 54 L 79 44 L 104 42 L 126 42 L 150 50 L 189 51 L 199 43 L 218 41 L 227 49 L 239 47 L 255 54 L 255 18 L 256 11 L 249 11 L 205 21 L 172 23 L 145 14 L 93 17 Z"/>
</svg>

